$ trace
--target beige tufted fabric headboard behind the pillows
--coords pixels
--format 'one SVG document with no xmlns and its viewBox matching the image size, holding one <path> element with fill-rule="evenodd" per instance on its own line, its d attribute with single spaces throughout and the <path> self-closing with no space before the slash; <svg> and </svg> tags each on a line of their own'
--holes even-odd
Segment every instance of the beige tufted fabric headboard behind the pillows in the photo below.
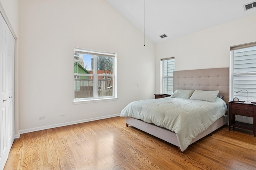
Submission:
<svg viewBox="0 0 256 170">
<path fill-rule="evenodd" d="M 229 100 L 229 68 L 208 68 L 173 72 L 173 91 L 176 89 L 219 90 L 224 101 Z"/>
</svg>

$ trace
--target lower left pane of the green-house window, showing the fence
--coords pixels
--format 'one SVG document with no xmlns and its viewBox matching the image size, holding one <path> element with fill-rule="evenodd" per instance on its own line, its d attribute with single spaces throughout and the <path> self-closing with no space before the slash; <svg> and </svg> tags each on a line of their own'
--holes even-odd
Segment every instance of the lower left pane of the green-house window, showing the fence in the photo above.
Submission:
<svg viewBox="0 0 256 170">
<path fill-rule="evenodd" d="M 93 98 L 93 76 L 80 76 L 75 79 L 75 98 Z"/>
</svg>

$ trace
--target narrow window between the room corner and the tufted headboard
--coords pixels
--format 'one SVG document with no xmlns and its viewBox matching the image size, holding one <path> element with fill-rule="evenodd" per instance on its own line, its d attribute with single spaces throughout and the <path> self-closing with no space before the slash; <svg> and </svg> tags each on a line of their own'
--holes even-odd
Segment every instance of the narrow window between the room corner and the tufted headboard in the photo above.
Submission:
<svg viewBox="0 0 256 170">
<path fill-rule="evenodd" d="M 164 94 L 172 94 L 173 92 L 173 72 L 175 69 L 174 57 L 161 59 L 161 92 Z"/>
</svg>

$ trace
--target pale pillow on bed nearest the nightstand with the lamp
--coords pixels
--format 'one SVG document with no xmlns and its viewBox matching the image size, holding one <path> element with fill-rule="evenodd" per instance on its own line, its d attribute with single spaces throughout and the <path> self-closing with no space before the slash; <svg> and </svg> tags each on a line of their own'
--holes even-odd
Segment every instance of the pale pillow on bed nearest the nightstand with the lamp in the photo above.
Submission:
<svg viewBox="0 0 256 170">
<path fill-rule="evenodd" d="M 195 90 L 192 96 L 190 97 L 190 99 L 214 102 L 218 94 L 219 94 L 219 90 L 215 90 L 215 91 Z"/>
</svg>

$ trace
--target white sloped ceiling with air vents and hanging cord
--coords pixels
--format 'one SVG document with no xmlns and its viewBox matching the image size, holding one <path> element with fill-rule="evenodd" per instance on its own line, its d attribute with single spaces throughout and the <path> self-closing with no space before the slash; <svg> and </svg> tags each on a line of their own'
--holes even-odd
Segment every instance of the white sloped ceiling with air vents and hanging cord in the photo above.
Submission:
<svg viewBox="0 0 256 170">
<path fill-rule="evenodd" d="M 142 33 L 145 30 L 146 37 L 155 43 L 256 14 L 256 8 L 244 11 L 243 7 L 255 1 L 106 0 Z M 168 37 L 161 39 L 162 34 Z"/>
</svg>

